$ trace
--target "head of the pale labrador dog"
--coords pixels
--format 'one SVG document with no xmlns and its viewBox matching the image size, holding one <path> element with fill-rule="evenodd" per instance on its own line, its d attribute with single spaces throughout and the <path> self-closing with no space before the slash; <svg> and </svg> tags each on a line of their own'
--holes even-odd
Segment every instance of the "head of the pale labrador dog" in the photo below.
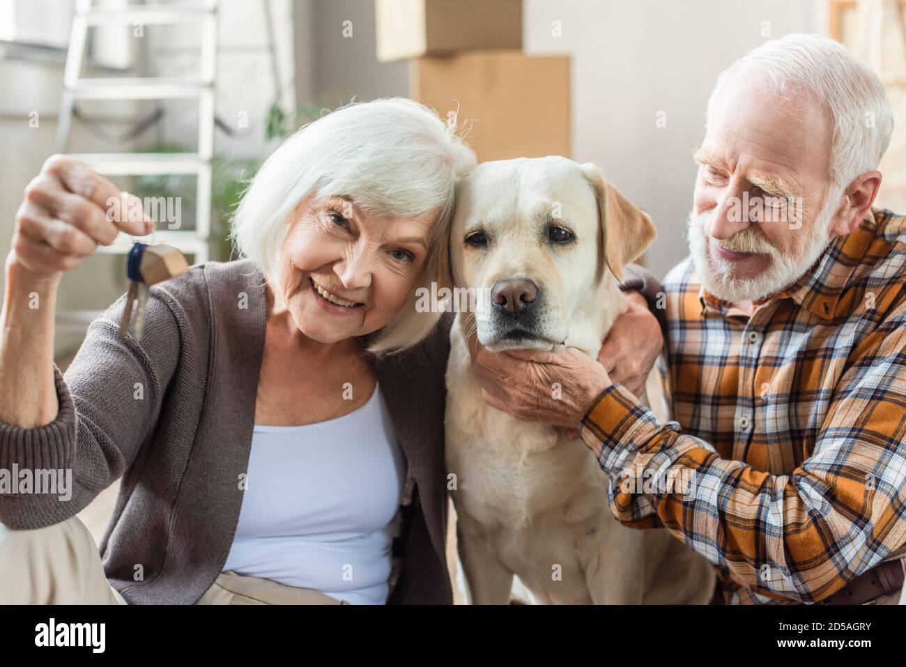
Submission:
<svg viewBox="0 0 906 667">
<path fill-rule="evenodd" d="M 607 307 L 602 285 L 622 280 L 654 237 L 651 219 L 591 163 L 497 160 L 459 182 L 451 269 L 457 287 L 488 297 L 476 320 L 489 350 L 550 350 L 570 323 Z"/>
</svg>

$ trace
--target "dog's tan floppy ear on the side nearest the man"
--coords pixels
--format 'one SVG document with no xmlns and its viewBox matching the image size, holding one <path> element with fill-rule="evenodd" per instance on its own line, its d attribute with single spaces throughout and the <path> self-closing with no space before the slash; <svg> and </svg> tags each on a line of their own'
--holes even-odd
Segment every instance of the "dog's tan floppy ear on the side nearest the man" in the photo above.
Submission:
<svg viewBox="0 0 906 667">
<path fill-rule="evenodd" d="M 640 256 L 658 233 L 648 214 L 632 206 L 630 200 L 607 182 L 592 162 L 585 162 L 582 170 L 598 198 L 598 217 L 604 235 L 604 261 L 617 280 L 622 281 L 622 267 Z"/>
</svg>

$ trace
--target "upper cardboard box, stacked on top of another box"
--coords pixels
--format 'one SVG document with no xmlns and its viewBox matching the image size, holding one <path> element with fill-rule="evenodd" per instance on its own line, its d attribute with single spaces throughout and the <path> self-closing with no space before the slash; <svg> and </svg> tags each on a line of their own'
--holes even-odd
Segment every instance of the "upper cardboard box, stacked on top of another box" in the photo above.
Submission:
<svg viewBox="0 0 906 667">
<path fill-rule="evenodd" d="M 522 48 L 522 0 L 375 0 L 374 13 L 381 63 Z"/>
</svg>

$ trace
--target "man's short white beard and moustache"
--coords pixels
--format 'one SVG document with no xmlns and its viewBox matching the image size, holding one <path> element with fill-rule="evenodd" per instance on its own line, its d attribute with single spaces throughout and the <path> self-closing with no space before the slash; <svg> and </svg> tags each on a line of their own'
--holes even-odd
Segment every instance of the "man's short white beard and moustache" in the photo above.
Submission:
<svg viewBox="0 0 906 667">
<path fill-rule="evenodd" d="M 708 257 L 705 227 L 708 224 L 708 218 L 714 214 L 717 208 L 704 211 L 698 216 L 694 211 L 689 211 L 687 228 L 689 250 L 692 253 L 692 260 L 695 262 L 701 284 L 710 294 L 729 303 L 758 301 L 793 285 L 805 275 L 805 272 L 814 265 L 818 257 L 822 256 L 824 250 L 830 245 L 831 238 L 828 232 L 831 220 L 834 218 L 833 203 L 837 199 L 839 198 L 825 198 L 824 207 L 814 219 L 813 224 L 807 227 L 805 246 L 801 251 L 793 252 L 793 256 L 781 253 L 752 227 L 721 241 L 720 246 L 729 250 L 757 253 L 769 257 L 770 264 L 767 268 L 754 278 L 747 279 L 733 275 L 733 262 L 716 256 L 713 252 Z M 791 230 L 792 233 L 797 231 Z M 711 243 L 717 243 L 717 241 L 712 238 Z"/>
</svg>

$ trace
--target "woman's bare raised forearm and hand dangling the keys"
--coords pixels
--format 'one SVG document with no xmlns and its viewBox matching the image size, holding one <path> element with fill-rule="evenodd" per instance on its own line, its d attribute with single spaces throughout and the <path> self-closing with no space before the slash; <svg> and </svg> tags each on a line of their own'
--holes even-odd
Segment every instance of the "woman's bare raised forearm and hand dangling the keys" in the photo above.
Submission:
<svg viewBox="0 0 906 667">
<path fill-rule="evenodd" d="M 120 230 L 149 234 L 139 198 L 121 193 L 78 160 L 54 155 L 25 188 L 6 256 L 0 314 L 0 420 L 24 429 L 50 423 L 59 405 L 53 379 L 56 291 Z"/>
</svg>

